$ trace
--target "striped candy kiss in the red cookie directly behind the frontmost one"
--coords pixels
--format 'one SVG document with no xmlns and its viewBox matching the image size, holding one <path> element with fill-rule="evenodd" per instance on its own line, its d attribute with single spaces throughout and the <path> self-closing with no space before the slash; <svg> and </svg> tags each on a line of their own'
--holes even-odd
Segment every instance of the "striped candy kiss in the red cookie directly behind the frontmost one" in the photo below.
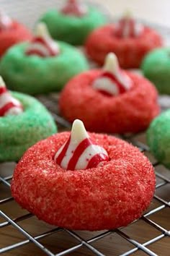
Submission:
<svg viewBox="0 0 170 256">
<path fill-rule="evenodd" d="M 120 69 L 115 54 L 107 54 L 103 69 L 102 74 L 92 84 L 95 90 L 107 95 L 119 95 L 130 90 L 133 81 Z"/>
</svg>

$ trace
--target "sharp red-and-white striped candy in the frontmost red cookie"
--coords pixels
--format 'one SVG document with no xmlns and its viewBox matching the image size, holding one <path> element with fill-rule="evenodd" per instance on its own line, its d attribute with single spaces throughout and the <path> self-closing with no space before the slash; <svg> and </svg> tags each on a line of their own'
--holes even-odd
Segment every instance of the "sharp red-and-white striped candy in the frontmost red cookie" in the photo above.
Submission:
<svg viewBox="0 0 170 256">
<path fill-rule="evenodd" d="M 82 170 L 97 167 L 101 162 L 109 161 L 109 156 L 104 148 L 91 140 L 84 123 L 76 119 L 69 139 L 55 153 L 54 160 L 66 170 Z"/>
</svg>

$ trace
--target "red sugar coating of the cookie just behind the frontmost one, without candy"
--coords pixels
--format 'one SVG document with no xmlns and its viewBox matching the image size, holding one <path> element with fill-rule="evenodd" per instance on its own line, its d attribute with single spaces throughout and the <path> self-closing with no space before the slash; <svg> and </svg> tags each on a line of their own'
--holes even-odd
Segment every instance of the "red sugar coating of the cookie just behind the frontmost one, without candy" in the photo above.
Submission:
<svg viewBox="0 0 170 256">
<path fill-rule="evenodd" d="M 92 88 L 100 70 L 91 70 L 74 77 L 61 93 L 59 106 L 68 119 L 81 119 L 92 132 L 140 132 L 158 115 L 156 88 L 138 74 L 126 72 L 133 87 L 126 93 L 108 96 Z"/>
</svg>

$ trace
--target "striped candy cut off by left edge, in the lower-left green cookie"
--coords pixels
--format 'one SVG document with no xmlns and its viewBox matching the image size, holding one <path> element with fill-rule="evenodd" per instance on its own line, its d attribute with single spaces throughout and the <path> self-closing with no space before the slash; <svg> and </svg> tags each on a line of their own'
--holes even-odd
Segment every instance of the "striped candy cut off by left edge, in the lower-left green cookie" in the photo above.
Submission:
<svg viewBox="0 0 170 256">
<path fill-rule="evenodd" d="M 0 77 L 0 116 L 18 115 L 22 112 L 22 104 L 12 97 Z"/>
</svg>

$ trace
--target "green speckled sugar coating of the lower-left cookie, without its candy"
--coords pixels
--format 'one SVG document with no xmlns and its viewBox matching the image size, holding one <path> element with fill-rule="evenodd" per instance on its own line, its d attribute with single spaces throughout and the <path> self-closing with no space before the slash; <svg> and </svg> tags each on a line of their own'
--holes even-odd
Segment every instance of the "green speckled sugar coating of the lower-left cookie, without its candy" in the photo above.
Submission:
<svg viewBox="0 0 170 256">
<path fill-rule="evenodd" d="M 57 132 L 53 117 L 31 96 L 13 92 L 24 107 L 22 114 L 0 117 L 0 162 L 18 161 L 35 142 Z"/>
</svg>

